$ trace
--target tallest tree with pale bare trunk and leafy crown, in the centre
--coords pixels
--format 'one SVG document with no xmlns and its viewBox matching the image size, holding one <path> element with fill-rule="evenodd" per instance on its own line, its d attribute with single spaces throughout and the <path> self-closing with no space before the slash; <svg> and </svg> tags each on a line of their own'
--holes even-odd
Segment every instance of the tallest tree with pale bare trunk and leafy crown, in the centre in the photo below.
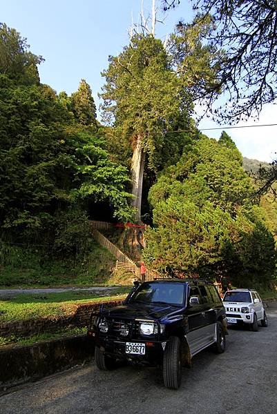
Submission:
<svg viewBox="0 0 277 414">
<path fill-rule="evenodd" d="M 172 72 L 162 42 L 152 35 L 136 35 L 109 62 L 103 72 L 104 119 L 132 148 L 133 206 L 140 221 L 145 162 L 157 170 L 164 131 L 176 128 L 177 119 L 190 128 L 191 99 Z"/>
</svg>

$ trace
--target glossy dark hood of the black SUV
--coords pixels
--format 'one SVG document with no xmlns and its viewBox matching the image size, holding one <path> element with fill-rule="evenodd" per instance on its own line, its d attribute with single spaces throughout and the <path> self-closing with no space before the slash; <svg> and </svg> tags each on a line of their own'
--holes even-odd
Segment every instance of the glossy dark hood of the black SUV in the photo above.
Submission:
<svg viewBox="0 0 277 414">
<path fill-rule="evenodd" d="M 167 317 L 172 314 L 179 313 L 182 307 L 171 306 L 167 304 L 159 304 L 153 306 L 146 304 L 126 304 L 107 308 L 102 310 L 102 314 L 107 317 L 119 317 L 122 319 L 162 319 L 165 315 Z"/>
</svg>

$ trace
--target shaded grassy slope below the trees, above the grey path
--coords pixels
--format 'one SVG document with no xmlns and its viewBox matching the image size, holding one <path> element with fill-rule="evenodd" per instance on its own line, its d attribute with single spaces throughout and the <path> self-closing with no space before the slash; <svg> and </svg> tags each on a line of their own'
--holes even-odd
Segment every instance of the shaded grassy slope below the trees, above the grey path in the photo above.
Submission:
<svg viewBox="0 0 277 414">
<path fill-rule="evenodd" d="M 83 257 L 48 257 L 35 248 L 1 246 L 0 288 L 109 285 L 115 259 L 95 242 Z"/>
</svg>

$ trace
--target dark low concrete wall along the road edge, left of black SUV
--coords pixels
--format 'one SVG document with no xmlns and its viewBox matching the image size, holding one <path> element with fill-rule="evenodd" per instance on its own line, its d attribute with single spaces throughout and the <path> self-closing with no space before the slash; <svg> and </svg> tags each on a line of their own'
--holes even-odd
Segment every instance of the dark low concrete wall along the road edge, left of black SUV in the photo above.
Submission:
<svg viewBox="0 0 277 414">
<path fill-rule="evenodd" d="M 86 335 L 0 351 L 0 395 L 11 386 L 84 364 L 93 358 L 94 344 Z"/>
</svg>

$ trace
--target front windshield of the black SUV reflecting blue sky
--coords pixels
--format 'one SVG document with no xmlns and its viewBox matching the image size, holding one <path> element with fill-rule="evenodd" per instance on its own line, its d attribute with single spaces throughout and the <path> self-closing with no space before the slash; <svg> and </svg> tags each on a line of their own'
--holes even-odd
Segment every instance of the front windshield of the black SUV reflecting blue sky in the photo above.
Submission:
<svg viewBox="0 0 277 414">
<path fill-rule="evenodd" d="M 184 284 L 145 282 L 128 302 L 182 305 L 184 304 Z"/>
</svg>

